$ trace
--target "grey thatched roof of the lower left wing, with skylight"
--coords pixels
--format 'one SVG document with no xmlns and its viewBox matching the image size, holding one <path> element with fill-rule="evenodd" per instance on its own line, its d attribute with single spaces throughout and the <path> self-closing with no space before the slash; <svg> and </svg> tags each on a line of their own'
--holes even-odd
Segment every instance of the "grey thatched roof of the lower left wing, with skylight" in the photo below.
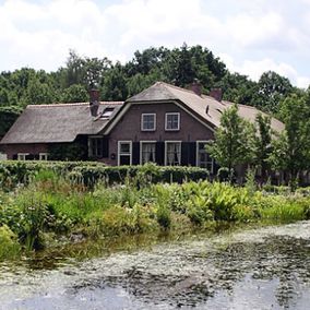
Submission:
<svg viewBox="0 0 310 310">
<path fill-rule="evenodd" d="M 29 105 L 0 143 L 72 142 L 79 134 L 98 134 L 122 104 L 102 102 L 98 116 L 106 108 L 114 108 L 114 112 L 107 118 L 92 117 L 90 103 Z"/>
</svg>

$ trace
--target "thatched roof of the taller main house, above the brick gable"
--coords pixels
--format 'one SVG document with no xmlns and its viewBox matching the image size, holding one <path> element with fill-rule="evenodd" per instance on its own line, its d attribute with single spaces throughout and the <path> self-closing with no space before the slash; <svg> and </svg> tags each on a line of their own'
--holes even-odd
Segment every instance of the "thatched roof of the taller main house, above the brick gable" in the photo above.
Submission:
<svg viewBox="0 0 310 310">
<path fill-rule="evenodd" d="M 126 104 L 143 102 L 167 103 L 171 100 L 179 102 L 186 109 L 189 109 L 214 128 L 219 126 L 223 111 L 234 105 L 226 100 L 218 102 L 211 96 L 199 96 L 190 90 L 180 88 L 164 82 L 155 83 L 140 94 L 129 98 Z M 254 107 L 238 105 L 239 116 L 251 122 L 254 122 L 259 112 L 261 111 Z M 284 130 L 284 124 L 277 119 L 272 118 L 272 128 L 279 132 Z"/>
</svg>

